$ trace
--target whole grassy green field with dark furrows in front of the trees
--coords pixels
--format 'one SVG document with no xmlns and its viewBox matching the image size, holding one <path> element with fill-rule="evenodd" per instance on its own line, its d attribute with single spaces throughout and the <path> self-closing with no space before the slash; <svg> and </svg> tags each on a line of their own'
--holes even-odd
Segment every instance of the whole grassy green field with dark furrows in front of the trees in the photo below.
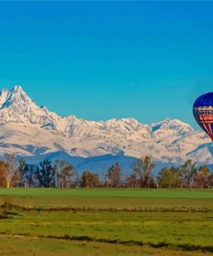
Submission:
<svg viewBox="0 0 213 256">
<path fill-rule="evenodd" d="M 213 253 L 210 189 L 0 189 L 0 204 L 0 255 Z"/>
</svg>

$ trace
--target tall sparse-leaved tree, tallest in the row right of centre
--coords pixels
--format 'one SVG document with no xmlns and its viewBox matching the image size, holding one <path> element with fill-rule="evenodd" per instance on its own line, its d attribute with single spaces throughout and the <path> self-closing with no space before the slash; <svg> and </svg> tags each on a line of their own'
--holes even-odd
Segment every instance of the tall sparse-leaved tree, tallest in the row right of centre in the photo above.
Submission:
<svg viewBox="0 0 213 256">
<path fill-rule="evenodd" d="M 141 188 L 149 188 L 153 186 L 153 168 L 155 163 L 151 156 L 139 158 L 133 164 L 133 173 L 135 174 Z"/>
</svg>

